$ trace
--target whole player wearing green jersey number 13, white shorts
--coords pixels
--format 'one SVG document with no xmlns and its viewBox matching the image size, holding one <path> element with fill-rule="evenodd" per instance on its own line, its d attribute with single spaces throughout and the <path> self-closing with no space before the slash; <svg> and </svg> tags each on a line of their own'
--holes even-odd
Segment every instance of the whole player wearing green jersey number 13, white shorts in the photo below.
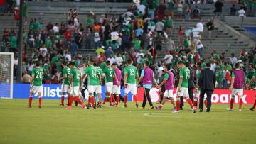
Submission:
<svg viewBox="0 0 256 144">
<path fill-rule="evenodd" d="M 124 108 L 127 108 L 127 96 L 128 93 L 131 92 L 133 99 L 135 101 L 136 107 L 139 105 L 137 103 L 137 82 L 139 79 L 139 73 L 137 67 L 132 65 L 132 60 L 127 60 L 128 66 L 124 68 Z"/>
</svg>

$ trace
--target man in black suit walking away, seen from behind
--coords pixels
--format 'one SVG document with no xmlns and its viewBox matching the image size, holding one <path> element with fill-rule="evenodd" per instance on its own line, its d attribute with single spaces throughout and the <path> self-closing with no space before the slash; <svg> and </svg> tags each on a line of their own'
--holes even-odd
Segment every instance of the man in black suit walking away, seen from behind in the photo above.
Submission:
<svg viewBox="0 0 256 144">
<path fill-rule="evenodd" d="M 201 89 L 199 109 L 203 112 L 203 96 L 207 95 L 207 109 L 206 112 L 210 112 L 211 107 L 211 95 L 215 87 L 216 75 L 213 70 L 210 70 L 210 63 L 206 64 L 206 68 L 201 71 L 198 85 Z"/>
</svg>

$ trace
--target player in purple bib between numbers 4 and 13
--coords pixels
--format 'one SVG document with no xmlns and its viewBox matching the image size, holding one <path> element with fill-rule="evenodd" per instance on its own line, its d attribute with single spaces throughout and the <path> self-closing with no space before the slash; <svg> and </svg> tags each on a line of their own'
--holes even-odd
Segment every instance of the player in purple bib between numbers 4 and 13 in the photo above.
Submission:
<svg viewBox="0 0 256 144">
<path fill-rule="evenodd" d="M 117 97 L 117 101 L 116 101 L 116 104 L 115 106 L 117 107 L 118 104 L 119 104 L 119 100 L 120 100 L 120 97 L 119 95 L 121 95 L 121 79 L 122 79 L 122 72 L 121 70 L 119 70 L 119 68 L 117 67 L 117 63 L 114 62 L 112 64 L 112 68 L 114 69 L 114 72 L 117 76 L 117 80 L 116 79 L 113 79 L 113 88 L 112 88 L 112 94 L 115 94 L 116 97 Z M 119 82 L 119 86 L 117 84 L 117 82 Z M 114 95 L 112 95 L 112 99 L 114 99 Z"/>
</svg>

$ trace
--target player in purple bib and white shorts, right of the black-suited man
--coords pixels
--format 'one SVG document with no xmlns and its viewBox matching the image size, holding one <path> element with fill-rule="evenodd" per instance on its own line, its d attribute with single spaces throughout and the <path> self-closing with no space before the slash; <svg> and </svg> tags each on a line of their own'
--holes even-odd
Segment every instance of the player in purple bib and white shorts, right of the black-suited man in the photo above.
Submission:
<svg viewBox="0 0 256 144">
<path fill-rule="evenodd" d="M 242 96 L 243 89 L 245 89 L 245 74 L 242 70 L 240 70 L 239 63 L 235 64 L 235 70 L 233 70 L 231 78 L 230 90 L 232 91 L 232 94 L 230 99 L 230 108 L 228 108 L 228 111 L 233 111 L 235 95 L 239 96 L 239 111 L 242 111 Z"/>
</svg>

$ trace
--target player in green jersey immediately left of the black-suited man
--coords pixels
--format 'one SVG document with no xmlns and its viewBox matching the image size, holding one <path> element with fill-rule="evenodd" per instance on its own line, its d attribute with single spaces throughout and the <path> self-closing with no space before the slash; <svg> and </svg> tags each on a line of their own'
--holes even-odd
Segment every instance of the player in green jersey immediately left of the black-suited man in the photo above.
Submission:
<svg viewBox="0 0 256 144">
<path fill-rule="evenodd" d="M 180 69 L 180 79 L 178 82 L 178 88 L 177 88 L 177 97 L 176 97 L 176 111 L 174 113 L 178 113 L 179 107 L 181 105 L 180 97 L 183 96 L 186 101 L 188 101 L 188 104 L 191 106 L 191 109 L 193 113 L 196 113 L 196 109 L 192 104 L 191 99 L 189 99 L 188 94 L 188 79 L 190 77 L 190 72 L 187 67 L 185 67 L 183 61 L 178 62 L 178 68 Z"/>
</svg>

